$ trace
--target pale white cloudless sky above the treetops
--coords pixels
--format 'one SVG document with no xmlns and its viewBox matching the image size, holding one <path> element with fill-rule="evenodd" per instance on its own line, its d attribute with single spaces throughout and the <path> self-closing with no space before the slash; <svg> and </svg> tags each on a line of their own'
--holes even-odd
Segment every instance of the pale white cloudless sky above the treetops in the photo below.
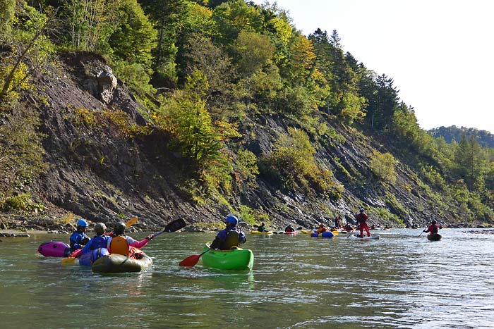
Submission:
<svg viewBox="0 0 494 329">
<path fill-rule="evenodd" d="M 344 52 L 394 80 L 421 128 L 456 125 L 494 133 L 494 1 L 276 3 L 304 35 L 318 27 L 328 35 L 337 30 Z"/>
</svg>

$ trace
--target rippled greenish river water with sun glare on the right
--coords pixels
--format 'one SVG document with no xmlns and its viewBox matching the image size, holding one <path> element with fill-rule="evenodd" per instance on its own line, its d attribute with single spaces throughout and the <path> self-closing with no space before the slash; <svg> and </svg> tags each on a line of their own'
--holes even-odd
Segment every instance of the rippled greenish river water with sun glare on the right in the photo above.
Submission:
<svg viewBox="0 0 494 329">
<path fill-rule="evenodd" d="M 215 235 L 166 233 L 145 247 L 152 269 L 119 275 L 37 255 L 68 235 L 2 237 L 0 328 L 493 328 L 494 234 L 420 232 L 248 234 L 253 271 L 238 273 L 180 268 Z"/>
</svg>

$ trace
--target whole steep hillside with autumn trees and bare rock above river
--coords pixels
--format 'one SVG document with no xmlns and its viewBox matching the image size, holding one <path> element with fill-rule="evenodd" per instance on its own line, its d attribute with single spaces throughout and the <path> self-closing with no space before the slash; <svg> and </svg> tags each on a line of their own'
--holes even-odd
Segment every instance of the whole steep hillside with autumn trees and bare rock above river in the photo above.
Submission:
<svg viewBox="0 0 494 329">
<path fill-rule="evenodd" d="M 419 128 L 392 77 L 243 0 L 0 0 L 0 225 L 485 225 L 493 149 Z M 215 226 L 216 225 L 216 226 Z"/>
</svg>

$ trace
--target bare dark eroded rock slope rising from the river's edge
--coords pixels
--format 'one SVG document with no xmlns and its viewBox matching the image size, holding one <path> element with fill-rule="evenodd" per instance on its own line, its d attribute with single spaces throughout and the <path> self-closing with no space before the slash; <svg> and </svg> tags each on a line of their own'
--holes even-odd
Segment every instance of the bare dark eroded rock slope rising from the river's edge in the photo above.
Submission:
<svg viewBox="0 0 494 329">
<path fill-rule="evenodd" d="M 72 212 L 90 221 L 113 223 L 135 215 L 140 218 L 137 227 L 143 230 L 183 217 L 191 224 L 215 222 L 209 227 L 217 228 L 219 218 L 238 212 L 244 204 L 263 209 L 277 228 L 288 221 L 305 227 L 317 221 L 332 223 L 338 213 L 353 223 L 359 206 L 366 207 L 371 223 L 382 225 L 423 226 L 439 213 L 443 223 L 452 218 L 421 196 L 417 175 L 403 162 L 397 163 L 396 182 L 375 180 L 369 163 L 372 150 L 392 150 L 330 117 L 327 125 L 339 138 L 316 142 L 320 146 L 316 156 L 344 185 L 341 199 L 284 192 L 260 176 L 258 187 L 229 198 L 233 209 L 222 204 L 198 206 L 181 188 L 181 168 L 186 163 L 166 151 L 167 136 L 138 133 L 147 125 L 146 110 L 102 58 L 66 55 L 59 68 L 35 77 L 35 84 L 42 101 L 33 98 L 32 106 L 40 111 L 49 163 L 38 193 L 50 204 L 47 213 L 38 217 L 60 218 Z M 296 123 L 273 116 L 245 125 L 250 127 L 244 131 L 248 149 L 258 156 L 268 153 L 276 132 L 290 125 Z M 27 223 L 20 219 L 14 226 Z"/>
</svg>

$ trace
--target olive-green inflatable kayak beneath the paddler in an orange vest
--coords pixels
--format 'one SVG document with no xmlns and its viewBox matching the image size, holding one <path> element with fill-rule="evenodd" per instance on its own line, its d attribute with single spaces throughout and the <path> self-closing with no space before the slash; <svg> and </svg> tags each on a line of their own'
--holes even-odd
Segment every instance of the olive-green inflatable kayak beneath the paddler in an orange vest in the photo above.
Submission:
<svg viewBox="0 0 494 329">
<path fill-rule="evenodd" d="M 152 266 L 152 259 L 142 253 L 141 259 L 133 259 L 119 254 L 109 254 L 97 259 L 91 265 L 93 272 L 97 273 L 126 273 L 146 271 Z"/>
</svg>

